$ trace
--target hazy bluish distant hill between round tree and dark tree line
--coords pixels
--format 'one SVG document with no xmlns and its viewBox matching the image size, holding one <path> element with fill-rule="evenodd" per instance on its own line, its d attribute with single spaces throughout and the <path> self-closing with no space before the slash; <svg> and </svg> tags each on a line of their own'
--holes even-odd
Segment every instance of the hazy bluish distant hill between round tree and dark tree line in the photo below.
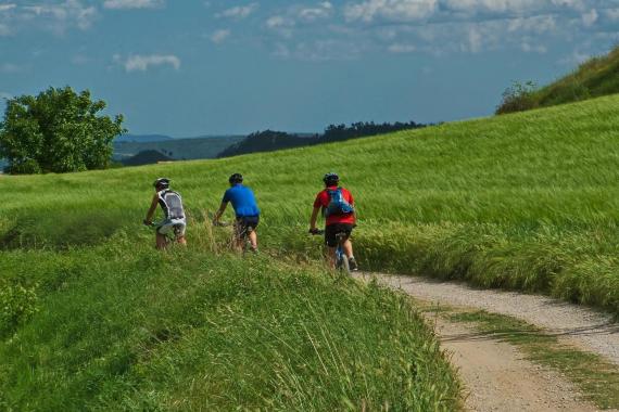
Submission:
<svg viewBox="0 0 619 412">
<path fill-rule="evenodd" d="M 114 159 L 123 162 L 144 151 L 157 151 L 170 159 L 192 160 L 215 158 L 228 146 L 244 139 L 242 136 L 169 139 L 150 142 L 115 141 Z"/>
</svg>

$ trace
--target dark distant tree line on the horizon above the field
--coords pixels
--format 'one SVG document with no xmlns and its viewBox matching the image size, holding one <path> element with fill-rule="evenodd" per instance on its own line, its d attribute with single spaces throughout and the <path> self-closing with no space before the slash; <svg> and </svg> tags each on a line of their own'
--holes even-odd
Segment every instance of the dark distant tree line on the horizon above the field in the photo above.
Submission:
<svg viewBox="0 0 619 412">
<path fill-rule="evenodd" d="M 399 130 L 419 129 L 427 125 L 415 121 L 394 124 L 374 121 L 358 121 L 351 126 L 329 125 L 323 134 L 300 136 L 276 130 L 257 131 L 248 136 L 239 143 L 224 150 L 217 157 L 231 157 L 249 153 L 273 152 L 282 149 L 310 146 L 320 143 L 341 142 L 350 139 L 383 134 Z"/>
</svg>

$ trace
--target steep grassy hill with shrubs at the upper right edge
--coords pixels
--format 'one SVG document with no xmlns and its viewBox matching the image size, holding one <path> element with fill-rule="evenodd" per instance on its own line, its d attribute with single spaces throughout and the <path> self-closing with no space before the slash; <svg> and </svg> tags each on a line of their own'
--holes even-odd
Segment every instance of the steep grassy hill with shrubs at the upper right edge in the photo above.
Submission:
<svg viewBox="0 0 619 412">
<path fill-rule="evenodd" d="M 506 90 L 496 114 L 522 112 L 619 93 L 619 46 L 605 56 L 581 64 L 573 73 L 535 89 L 516 85 Z"/>
</svg>

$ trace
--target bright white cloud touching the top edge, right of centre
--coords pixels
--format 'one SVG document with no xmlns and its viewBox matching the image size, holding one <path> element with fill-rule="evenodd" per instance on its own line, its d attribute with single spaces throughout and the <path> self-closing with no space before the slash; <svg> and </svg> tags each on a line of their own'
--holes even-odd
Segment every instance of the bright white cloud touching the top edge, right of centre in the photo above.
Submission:
<svg viewBox="0 0 619 412">
<path fill-rule="evenodd" d="M 395 22 L 415 22 L 430 17 L 439 5 L 439 0 L 367 0 L 348 4 L 344 17 L 349 22 L 370 23 L 378 18 Z"/>
</svg>

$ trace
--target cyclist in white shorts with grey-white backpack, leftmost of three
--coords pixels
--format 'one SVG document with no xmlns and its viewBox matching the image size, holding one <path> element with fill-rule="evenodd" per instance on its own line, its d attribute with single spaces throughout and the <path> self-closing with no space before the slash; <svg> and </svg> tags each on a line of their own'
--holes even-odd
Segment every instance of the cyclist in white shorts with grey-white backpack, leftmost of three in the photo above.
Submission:
<svg viewBox="0 0 619 412">
<path fill-rule="evenodd" d="M 164 249 L 167 246 L 166 235 L 172 231 L 174 231 L 177 243 L 187 245 L 187 240 L 185 239 L 187 221 L 180 194 L 169 189 L 169 179 L 167 178 L 159 178 L 154 181 L 153 186 L 155 188 L 155 194 L 144 219 L 144 224 L 153 224 L 152 218 L 157 205 L 160 205 L 165 219 L 156 226 L 156 248 Z"/>
</svg>

